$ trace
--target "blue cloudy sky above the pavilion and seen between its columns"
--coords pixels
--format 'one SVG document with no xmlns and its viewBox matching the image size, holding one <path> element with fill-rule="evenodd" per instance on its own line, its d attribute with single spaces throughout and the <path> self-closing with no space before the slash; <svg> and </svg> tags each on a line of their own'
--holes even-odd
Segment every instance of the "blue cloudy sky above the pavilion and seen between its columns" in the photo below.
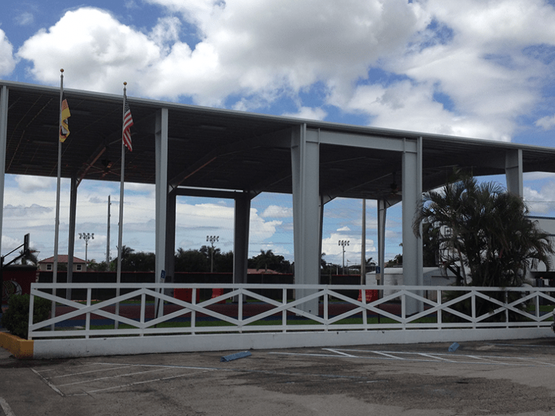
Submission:
<svg viewBox="0 0 555 416">
<path fill-rule="evenodd" d="M 0 78 L 305 119 L 553 146 L 555 2 L 550 0 L 28 0 L 0 15 Z M 69 103 L 71 108 L 71 103 Z M 133 109 L 132 109 L 133 110 Z M 70 136 L 71 139 L 71 136 Z M 493 178 L 504 183 L 503 177 Z M 552 175 L 529 173 L 532 214 L 553 215 Z M 62 183 L 60 254 L 69 193 Z M 119 184 L 85 181 L 77 232 L 94 232 L 89 259 L 117 255 Z M 2 252 L 31 233 L 53 254 L 56 180 L 8 177 Z M 543 202 L 534 202 L 543 201 Z M 367 257 L 376 258 L 375 203 Z M 232 203 L 180 198 L 177 247 L 219 235 L 232 249 Z M 253 200 L 250 255 L 293 260 L 291 197 Z M 360 259 L 361 201 L 326 205 L 323 251 Z M 123 243 L 154 250 L 153 189 L 126 185 Z M 401 251 L 400 207 L 388 212 L 386 258 Z M 85 257 L 83 241 L 76 255 Z"/>
</svg>

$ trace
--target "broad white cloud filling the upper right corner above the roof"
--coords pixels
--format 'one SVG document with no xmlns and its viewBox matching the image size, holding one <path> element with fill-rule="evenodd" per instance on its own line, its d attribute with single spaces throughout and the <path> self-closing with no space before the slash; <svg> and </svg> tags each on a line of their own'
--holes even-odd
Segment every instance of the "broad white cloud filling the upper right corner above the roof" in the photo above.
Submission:
<svg viewBox="0 0 555 416">
<path fill-rule="evenodd" d="M 382 127 L 509 141 L 517 117 L 540 100 L 538 80 L 552 71 L 527 51 L 554 43 L 554 8 L 540 0 L 432 0 L 422 10 L 429 26 L 404 53 L 382 59 L 398 79 L 351 95 L 334 91 L 330 103 Z"/>
</svg>

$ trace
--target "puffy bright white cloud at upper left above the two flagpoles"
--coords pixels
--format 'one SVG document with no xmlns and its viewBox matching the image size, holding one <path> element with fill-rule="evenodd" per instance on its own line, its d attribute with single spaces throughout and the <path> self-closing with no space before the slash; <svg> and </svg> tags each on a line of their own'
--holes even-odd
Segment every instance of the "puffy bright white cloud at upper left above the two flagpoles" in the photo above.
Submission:
<svg viewBox="0 0 555 416">
<path fill-rule="evenodd" d="M 160 47 L 104 10 L 80 8 L 26 40 L 17 55 L 33 63 L 29 71 L 44 83 L 57 83 L 64 68 L 68 86 L 119 92 L 123 81 L 139 85 Z"/>
</svg>

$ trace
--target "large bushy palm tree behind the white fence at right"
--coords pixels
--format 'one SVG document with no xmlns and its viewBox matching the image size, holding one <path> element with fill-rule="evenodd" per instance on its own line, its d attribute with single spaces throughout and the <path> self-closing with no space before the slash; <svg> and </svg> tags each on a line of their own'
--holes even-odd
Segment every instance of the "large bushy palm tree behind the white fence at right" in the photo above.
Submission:
<svg viewBox="0 0 555 416">
<path fill-rule="evenodd" d="M 444 267 L 459 265 L 459 284 L 521 286 L 527 270 L 543 262 L 549 269 L 555 251 L 549 236 L 527 217 L 522 199 L 493 182 L 459 175 L 420 202 L 413 231 L 436 233 Z"/>
</svg>

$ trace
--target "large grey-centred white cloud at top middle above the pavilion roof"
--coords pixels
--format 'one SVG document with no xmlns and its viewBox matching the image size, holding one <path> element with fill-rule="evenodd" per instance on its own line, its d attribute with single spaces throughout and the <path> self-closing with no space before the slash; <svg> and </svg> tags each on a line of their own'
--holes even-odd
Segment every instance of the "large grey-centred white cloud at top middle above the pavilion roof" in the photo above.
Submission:
<svg viewBox="0 0 555 416">
<path fill-rule="evenodd" d="M 273 101 L 317 80 L 350 84 L 400 49 L 419 23 L 416 6 L 400 0 L 153 2 L 196 22 L 202 42 L 194 50 L 174 44 L 152 89 L 216 105 L 230 94 Z"/>
</svg>

